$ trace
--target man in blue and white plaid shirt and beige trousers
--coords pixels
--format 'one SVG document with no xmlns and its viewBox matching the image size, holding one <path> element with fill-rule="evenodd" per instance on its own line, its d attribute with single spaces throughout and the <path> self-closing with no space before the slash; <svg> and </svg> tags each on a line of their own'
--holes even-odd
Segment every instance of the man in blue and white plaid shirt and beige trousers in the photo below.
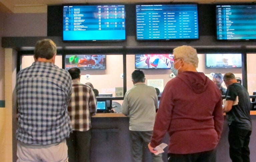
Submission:
<svg viewBox="0 0 256 162">
<path fill-rule="evenodd" d="M 69 73 L 54 65 L 56 53 L 52 40 L 38 41 L 35 62 L 17 74 L 18 162 L 68 161 L 72 85 Z"/>
</svg>

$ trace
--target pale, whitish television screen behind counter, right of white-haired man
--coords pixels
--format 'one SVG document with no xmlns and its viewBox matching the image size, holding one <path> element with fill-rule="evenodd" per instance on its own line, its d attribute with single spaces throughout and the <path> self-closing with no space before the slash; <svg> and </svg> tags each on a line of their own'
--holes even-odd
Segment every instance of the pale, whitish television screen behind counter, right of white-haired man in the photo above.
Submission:
<svg viewBox="0 0 256 162">
<path fill-rule="evenodd" d="M 205 54 L 206 69 L 242 68 L 241 54 Z"/>
</svg>

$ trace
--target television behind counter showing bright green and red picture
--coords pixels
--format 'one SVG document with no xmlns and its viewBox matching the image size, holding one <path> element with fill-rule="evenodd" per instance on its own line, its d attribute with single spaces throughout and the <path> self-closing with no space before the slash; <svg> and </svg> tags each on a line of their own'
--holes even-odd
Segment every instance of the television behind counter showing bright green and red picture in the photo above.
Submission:
<svg viewBox="0 0 256 162">
<path fill-rule="evenodd" d="M 80 70 L 105 70 L 106 55 L 66 55 L 65 69 L 79 68 Z"/>
</svg>

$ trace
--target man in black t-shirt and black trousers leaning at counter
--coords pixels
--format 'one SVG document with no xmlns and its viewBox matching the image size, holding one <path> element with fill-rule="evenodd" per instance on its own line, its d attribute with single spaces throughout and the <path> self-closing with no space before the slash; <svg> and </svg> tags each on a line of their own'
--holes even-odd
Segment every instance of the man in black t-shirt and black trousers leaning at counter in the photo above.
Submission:
<svg viewBox="0 0 256 162">
<path fill-rule="evenodd" d="M 249 142 L 252 132 L 250 118 L 250 96 L 232 73 L 226 73 L 223 80 L 227 86 L 223 110 L 229 125 L 228 141 L 231 160 L 249 162 Z"/>
</svg>

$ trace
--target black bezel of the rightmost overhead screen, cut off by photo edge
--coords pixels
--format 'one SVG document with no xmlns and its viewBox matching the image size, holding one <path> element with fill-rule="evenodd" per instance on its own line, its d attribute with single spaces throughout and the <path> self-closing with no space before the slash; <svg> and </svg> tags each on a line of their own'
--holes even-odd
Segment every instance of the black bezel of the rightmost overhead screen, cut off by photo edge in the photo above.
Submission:
<svg viewBox="0 0 256 162">
<path fill-rule="evenodd" d="M 255 41 L 255 39 L 218 39 L 218 29 L 217 29 L 217 6 L 219 5 L 233 5 L 233 6 L 236 6 L 236 5 L 252 5 L 252 6 L 255 6 L 256 7 L 256 4 L 253 4 L 253 3 L 219 3 L 219 4 L 215 4 L 215 39 L 217 41 Z"/>
</svg>

